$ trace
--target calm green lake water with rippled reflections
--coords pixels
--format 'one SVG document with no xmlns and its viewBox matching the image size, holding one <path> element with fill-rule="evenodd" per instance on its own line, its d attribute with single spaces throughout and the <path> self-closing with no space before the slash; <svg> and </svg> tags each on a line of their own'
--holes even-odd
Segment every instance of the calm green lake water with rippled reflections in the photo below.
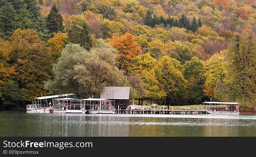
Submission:
<svg viewBox="0 0 256 157">
<path fill-rule="evenodd" d="M 256 136 L 256 114 L 58 114 L 0 111 L 0 136 Z"/>
</svg>

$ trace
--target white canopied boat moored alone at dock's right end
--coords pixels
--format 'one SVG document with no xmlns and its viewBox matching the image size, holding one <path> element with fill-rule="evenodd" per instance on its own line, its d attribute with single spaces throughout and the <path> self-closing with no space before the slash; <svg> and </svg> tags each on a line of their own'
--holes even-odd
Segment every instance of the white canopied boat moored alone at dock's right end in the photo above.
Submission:
<svg viewBox="0 0 256 157">
<path fill-rule="evenodd" d="M 202 111 L 210 114 L 239 114 L 239 103 L 237 102 L 203 102 Z"/>
</svg>

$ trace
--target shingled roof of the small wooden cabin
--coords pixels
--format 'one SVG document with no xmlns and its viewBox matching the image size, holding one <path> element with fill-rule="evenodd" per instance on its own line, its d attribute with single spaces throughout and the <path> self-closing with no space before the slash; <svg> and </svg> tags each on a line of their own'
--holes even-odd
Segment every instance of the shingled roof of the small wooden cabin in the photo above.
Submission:
<svg viewBox="0 0 256 157">
<path fill-rule="evenodd" d="M 130 87 L 102 87 L 101 99 L 126 99 L 130 97 Z"/>
</svg>

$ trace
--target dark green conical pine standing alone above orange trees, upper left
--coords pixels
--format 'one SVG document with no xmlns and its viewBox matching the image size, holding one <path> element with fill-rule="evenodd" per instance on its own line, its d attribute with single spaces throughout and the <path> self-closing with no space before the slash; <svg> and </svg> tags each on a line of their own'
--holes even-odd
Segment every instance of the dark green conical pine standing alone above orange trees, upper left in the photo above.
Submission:
<svg viewBox="0 0 256 157">
<path fill-rule="evenodd" d="M 59 9 L 56 7 L 54 3 L 51 7 L 50 13 L 47 15 L 47 28 L 50 33 L 59 33 L 63 31 L 63 18 L 59 13 Z"/>
</svg>

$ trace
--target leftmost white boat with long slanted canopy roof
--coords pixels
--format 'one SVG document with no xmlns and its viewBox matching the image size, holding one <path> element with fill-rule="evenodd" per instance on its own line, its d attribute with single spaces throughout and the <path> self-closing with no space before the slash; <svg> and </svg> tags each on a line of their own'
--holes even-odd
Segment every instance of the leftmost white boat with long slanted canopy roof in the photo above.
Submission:
<svg viewBox="0 0 256 157">
<path fill-rule="evenodd" d="M 74 95 L 74 94 L 69 93 L 69 94 L 50 95 L 50 96 L 33 98 L 32 104 L 27 105 L 26 110 L 27 111 L 49 111 L 50 105 L 53 102 L 53 98 L 62 98 L 70 95 Z"/>
</svg>

